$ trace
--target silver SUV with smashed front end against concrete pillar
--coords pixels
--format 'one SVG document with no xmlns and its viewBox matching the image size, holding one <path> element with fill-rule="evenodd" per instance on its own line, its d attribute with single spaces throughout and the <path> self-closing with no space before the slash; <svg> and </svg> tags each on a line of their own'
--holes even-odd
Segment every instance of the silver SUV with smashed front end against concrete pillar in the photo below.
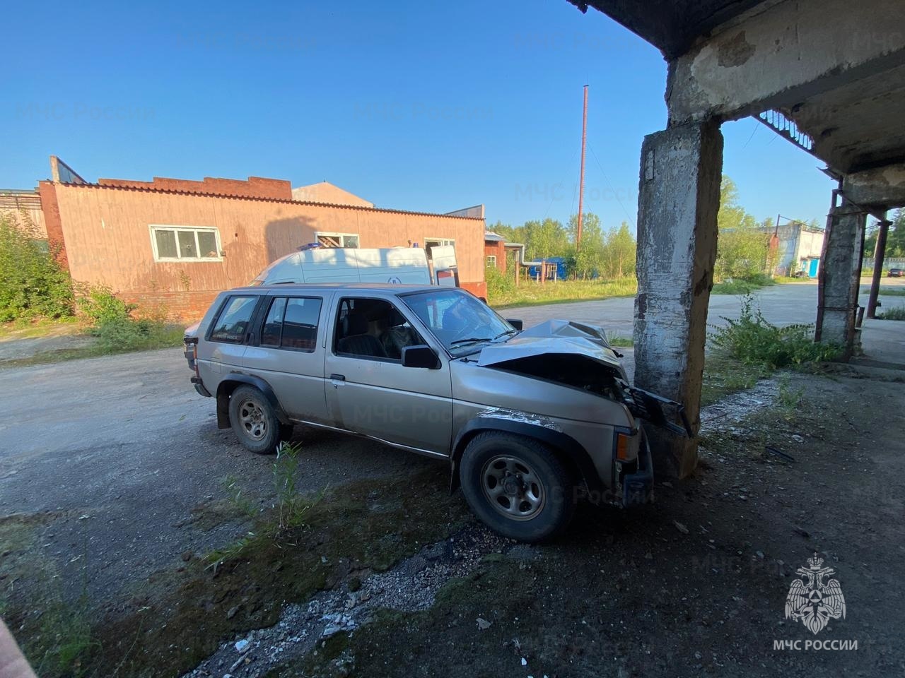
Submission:
<svg viewBox="0 0 905 678">
<path fill-rule="evenodd" d="M 280 285 L 216 298 L 186 358 L 217 423 L 271 453 L 303 424 L 446 460 L 501 534 L 561 532 L 576 499 L 653 499 L 646 419 L 678 403 L 633 389 L 599 327 L 522 330 L 455 287 Z M 671 412 L 667 417 L 666 411 Z"/>
</svg>

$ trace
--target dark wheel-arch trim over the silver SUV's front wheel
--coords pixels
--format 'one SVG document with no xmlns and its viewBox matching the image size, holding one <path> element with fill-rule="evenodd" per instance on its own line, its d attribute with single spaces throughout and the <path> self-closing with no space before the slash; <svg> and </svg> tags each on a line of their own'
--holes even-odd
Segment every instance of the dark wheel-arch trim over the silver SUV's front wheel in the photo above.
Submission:
<svg viewBox="0 0 905 678">
<path fill-rule="evenodd" d="M 587 454 L 586 449 L 575 438 L 564 433 L 552 419 L 529 412 L 492 408 L 479 412 L 462 427 L 452 444 L 450 494 L 460 484 L 459 460 L 462 458 L 465 447 L 468 447 L 472 438 L 483 431 L 505 431 L 526 438 L 535 438 L 557 450 L 567 464 L 573 466 L 580 476 L 579 479 L 587 486 L 589 493 L 599 494 L 605 490 L 605 485 L 597 474 L 594 462 Z"/>
</svg>

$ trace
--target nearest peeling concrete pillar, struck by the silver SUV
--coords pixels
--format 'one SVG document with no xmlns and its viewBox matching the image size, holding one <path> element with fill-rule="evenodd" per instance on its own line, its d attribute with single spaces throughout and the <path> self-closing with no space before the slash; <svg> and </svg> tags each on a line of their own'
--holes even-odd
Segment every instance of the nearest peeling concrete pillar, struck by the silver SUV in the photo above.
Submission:
<svg viewBox="0 0 905 678">
<path fill-rule="evenodd" d="M 670 127 L 644 137 L 638 190 L 638 296 L 634 379 L 681 402 L 695 433 L 717 255 L 723 137 L 719 123 Z M 648 427 L 658 475 L 688 476 L 695 439 Z"/>
</svg>

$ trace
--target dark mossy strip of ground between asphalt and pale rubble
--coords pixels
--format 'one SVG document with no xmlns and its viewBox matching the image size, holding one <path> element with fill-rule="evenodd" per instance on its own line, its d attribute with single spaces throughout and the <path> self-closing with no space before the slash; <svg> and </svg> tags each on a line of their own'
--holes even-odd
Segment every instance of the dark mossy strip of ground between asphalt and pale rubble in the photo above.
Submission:
<svg viewBox="0 0 905 678">
<path fill-rule="evenodd" d="M 108 675 L 119 667 L 130 676 L 185 672 L 230 636 L 275 624 L 284 604 L 392 567 L 462 524 L 462 499 L 449 496 L 447 486 L 445 466 L 342 485 L 278 539 L 246 535 L 241 548 L 217 554 L 215 567 L 192 560 L 183 572 L 157 574 L 126 615 L 100 623 L 92 669 Z"/>
</svg>

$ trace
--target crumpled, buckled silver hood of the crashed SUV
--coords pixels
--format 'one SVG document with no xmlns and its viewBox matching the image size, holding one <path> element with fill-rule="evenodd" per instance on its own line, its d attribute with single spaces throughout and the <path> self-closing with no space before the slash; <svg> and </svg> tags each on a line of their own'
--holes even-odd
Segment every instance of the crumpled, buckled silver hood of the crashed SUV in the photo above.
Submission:
<svg viewBox="0 0 905 678">
<path fill-rule="evenodd" d="M 603 328 L 570 320 L 548 320 L 517 334 L 503 344 L 488 344 L 481 350 L 478 364 L 499 365 L 537 355 L 572 354 L 603 363 L 623 378 L 619 358 L 606 343 Z"/>
</svg>

